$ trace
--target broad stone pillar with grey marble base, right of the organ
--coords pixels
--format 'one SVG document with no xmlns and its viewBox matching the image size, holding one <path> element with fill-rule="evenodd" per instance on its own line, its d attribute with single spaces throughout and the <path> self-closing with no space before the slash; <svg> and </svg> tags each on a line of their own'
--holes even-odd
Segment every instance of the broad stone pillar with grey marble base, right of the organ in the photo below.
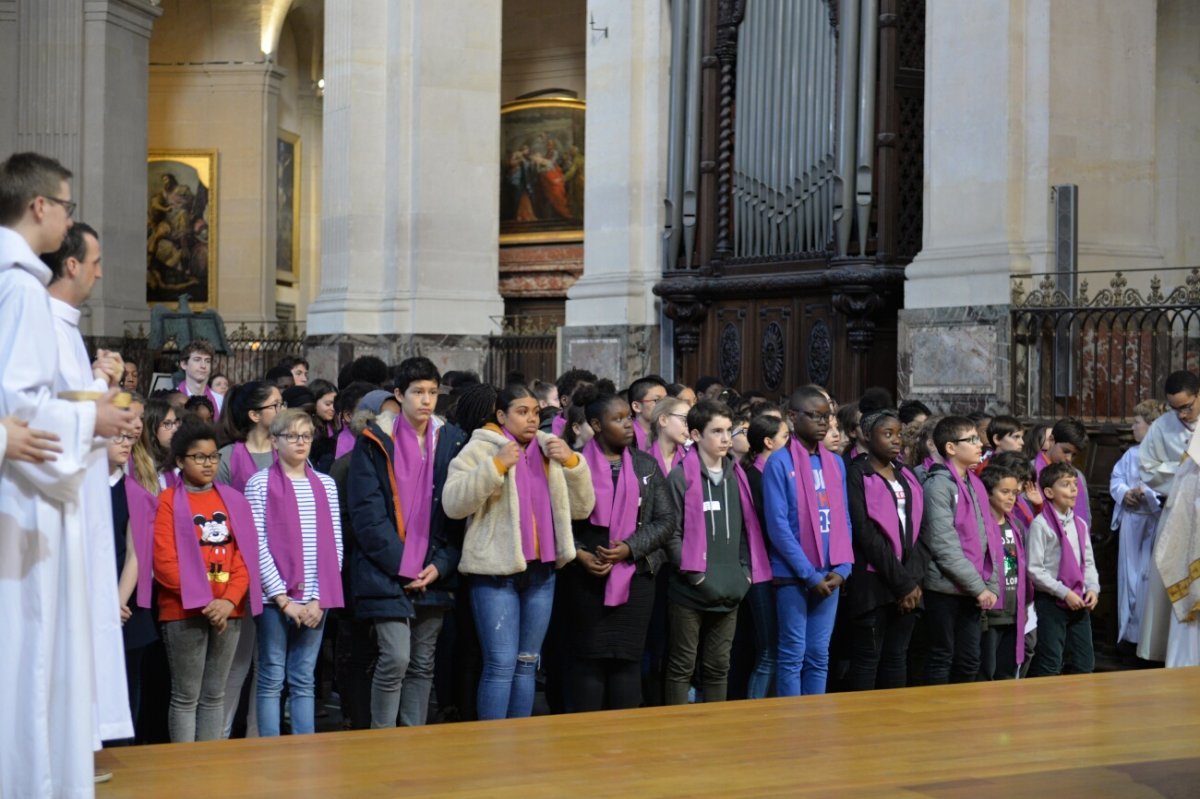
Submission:
<svg viewBox="0 0 1200 799">
<path fill-rule="evenodd" d="M 925 30 L 924 248 L 900 395 L 1003 405 L 1010 277 L 1054 268 L 1052 186 L 1079 186 L 1081 271 L 1162 264 L 1156 0 L 929 4 Z"/>
</svg>

